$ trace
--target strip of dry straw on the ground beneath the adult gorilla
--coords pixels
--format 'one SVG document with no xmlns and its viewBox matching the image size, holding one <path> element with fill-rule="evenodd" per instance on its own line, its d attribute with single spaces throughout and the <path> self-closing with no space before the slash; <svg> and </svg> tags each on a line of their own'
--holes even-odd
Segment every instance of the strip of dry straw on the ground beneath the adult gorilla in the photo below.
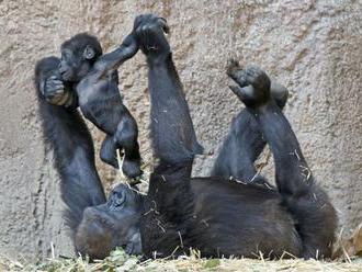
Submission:
<svg viewBox="0 0 362 272">
<path fill-rule="evenodd" d="M 76 271 L 341 271 L 362 272 L 362 259 L 357 258 L 349 261 L 316 261 L 316 260 L 252 260 L 252 259 L 199 259 L 196 257 L 184 257 L 178 260 L 148 260 L 139 261 L 129 257 L 123 250 L 115 250 L 103 261 L 89 263 L 78 259 L 52 259 L 38 264 L 26 264 L 24 262 L 0 259 L 0 271 L 52 271 L 52 272 L 76 272 Z"/>
</svg>

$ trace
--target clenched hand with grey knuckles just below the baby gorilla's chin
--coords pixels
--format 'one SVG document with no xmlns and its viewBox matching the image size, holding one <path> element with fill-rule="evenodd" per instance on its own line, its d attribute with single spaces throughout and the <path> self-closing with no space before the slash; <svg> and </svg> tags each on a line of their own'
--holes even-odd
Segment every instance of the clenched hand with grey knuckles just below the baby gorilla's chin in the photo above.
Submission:
<svg viewBox="0 0 362 272">
<path fill-rule="evenodd" d="M 64 105 L 69 93 L 65 91 L 63 81 L 57 76 L 47 78 L 41 88 L 45 100 L 54 105 Z"/>
</svg>

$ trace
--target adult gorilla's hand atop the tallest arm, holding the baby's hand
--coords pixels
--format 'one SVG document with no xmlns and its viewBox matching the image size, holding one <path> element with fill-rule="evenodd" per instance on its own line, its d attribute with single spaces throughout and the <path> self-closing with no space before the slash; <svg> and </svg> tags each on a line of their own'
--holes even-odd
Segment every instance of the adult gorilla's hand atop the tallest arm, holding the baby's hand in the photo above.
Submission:
<svg viewBox="0 0 362 272">
<path fill-rule="evenodd" d="M 135 19 L 134 33 L 139 48 L 149 57 L 170 53 L 170 45 L 165 36 L 168 32 L 169 27 L 163 18 L 145 14 Z"/>
</svg>

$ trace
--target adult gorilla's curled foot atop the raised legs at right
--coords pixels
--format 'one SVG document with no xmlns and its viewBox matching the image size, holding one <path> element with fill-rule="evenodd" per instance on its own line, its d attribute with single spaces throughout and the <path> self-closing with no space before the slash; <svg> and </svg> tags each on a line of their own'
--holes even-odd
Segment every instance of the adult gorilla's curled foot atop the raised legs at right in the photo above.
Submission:
<svg viewBox="0 0 362 272">
<path fill-rule="evenodd" d="M 248 66 L 242 69 L 236 60 L 230 60 L 227 75 L 238 83 L 238 86 L 230 86 L 231 91 L 248 107 L 258 107 L 270 100 L 271 82 L 267 73 L 259 67 Z"/>
</svg>

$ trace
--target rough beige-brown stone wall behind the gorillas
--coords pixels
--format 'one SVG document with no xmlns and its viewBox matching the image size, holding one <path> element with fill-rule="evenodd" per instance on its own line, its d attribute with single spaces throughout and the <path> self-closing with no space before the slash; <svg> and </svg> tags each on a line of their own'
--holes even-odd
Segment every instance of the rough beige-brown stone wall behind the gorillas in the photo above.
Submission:
<svg viewBox="0 0 362 272">
<path fill-rule="evenodd" d="M 171 26 L 176 65 L 207 154 L 197 160 L 195 173 L 207 173 L 240 109 L 224 73 L 226 59 L 235 56 L 287 86 L 286 115 L 341 225 L 349 229 L 361 222 L 361 1 L 5 0 L 0 1 L 0 253 L 45 257 L 50 243 L 56 254 L 71 253 L 59 181 L 36 114 L 36 59 L 57 54 L 61 41 L 83 31 L 98 35 L 110 50 L 144 12 L 161 14 Z M 142 148 L 149 154 L 144 57 L 129 60 L 120 75 L 145 132 Z M 93 131 L 100 141 L 103 135 Z M 101 174 L 111 183 L 115 173 L 102 165 Z"/>
</svg>

